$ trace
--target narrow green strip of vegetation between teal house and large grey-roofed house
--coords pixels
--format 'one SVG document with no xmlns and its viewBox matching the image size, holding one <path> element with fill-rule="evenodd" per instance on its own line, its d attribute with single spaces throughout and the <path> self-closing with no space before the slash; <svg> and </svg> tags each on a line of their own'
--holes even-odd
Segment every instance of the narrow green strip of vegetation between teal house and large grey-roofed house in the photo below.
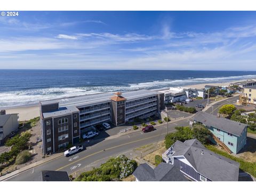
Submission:
<svg viewBox="0 0 256 192">
<path fill-rule="evenodd" d="M 240 163 L 241 170 L 243 170 L 244 172 L 250 173 L 253 177 L 256 177 L 256 163 L 247 162 L 247 161 L 244 161 L 244 159 L 242 159 L 242 158 L 238 158 L 238 157 L 234 157 L 233 155 L 229 155 L 225 151 L 219 150 L 213 145 L 206 145 L 205 147 L 207 149 L 213 151 L 214 153 L 225 156 L 227 158 L 232 159 L 233 161 Z"/>
</svg>

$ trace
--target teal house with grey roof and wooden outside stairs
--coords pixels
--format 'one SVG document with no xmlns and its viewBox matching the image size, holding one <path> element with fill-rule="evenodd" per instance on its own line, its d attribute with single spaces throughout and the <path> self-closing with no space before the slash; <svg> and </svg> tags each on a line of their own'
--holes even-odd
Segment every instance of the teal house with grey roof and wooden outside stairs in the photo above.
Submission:
<svg viewBox="0 0 256 192">
<path fill-rule="evenodd" d="M 223 147 L 228 153 L 237 154 L 246 145 L 247 125 L 230 119 L 199 112 L 190 120 L 202 123 L 212 132 L 211 141 Z"/>
</svg>

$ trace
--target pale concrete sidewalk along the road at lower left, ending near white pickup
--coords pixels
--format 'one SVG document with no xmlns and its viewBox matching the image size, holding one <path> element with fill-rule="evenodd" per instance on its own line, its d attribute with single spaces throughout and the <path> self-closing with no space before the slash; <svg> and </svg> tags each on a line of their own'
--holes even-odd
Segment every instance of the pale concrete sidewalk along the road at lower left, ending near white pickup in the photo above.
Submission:
<svg viewBox="0 0 256 192">
<path fill-rule="evenodd" d="M 33 167 L 38 166 L 38 165 L 42 165 L 42 164 L 44 164 L 44 163 L 46 163 L 46 162 L 52 161 L 53 159 L 59 158 L 59 157 L 61 157 L 61 156 L 63 156 L 63 153 L 53 154 L 53 155 L 51 155 L 51 156 L 48 156 L 48 157 L 42 159 L 41 161 L 38 161 L 38 162 L 35 162 L 35 163 L 31 163 L 30 165 L 21 167 L 21 168 L 18 169 L 18 170 L 15 170 L 15 171 L 13 171 L 13 172 L 11 172 L 11 173 L 7 173 L 7 174 L 1 176 L 1 177 L 0 177 L 0 181 L 3 181 L 3 180 L 5 180 L 5 179 L 8 179 L 8 178 L 10 178 L 10 177 L 12 177 L 12 176 L 14 176 L 14 175 L 16 175 L 16 174 L 19 174 L 19 173 L 21 173 L 21 172 L 27 171 L 27 170 L 29 170 L 29 169 L 31 169 L 31 168 L 33 168 Z"/>
</svg>

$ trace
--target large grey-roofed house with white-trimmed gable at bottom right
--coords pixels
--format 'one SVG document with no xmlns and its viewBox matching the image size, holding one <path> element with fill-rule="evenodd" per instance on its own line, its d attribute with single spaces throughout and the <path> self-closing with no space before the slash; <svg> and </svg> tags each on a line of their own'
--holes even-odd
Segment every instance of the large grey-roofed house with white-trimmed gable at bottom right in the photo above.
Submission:
<svg viewBox="0 0 256 192">
<path fill-rule="evenodd" d="M 238 181 L 240 164 L 206 149 L 197 139 L 177 140 L 162 158 L 193 181 Z"/>
</svg>

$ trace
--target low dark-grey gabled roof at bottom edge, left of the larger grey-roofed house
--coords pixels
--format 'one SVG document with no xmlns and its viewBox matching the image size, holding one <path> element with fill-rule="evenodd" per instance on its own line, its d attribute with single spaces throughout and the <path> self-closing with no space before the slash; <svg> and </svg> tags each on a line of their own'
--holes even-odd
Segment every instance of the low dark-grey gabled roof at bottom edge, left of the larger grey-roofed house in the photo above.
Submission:
<svg viewBox="0 0 256 192">
<path fill-rule="evenodd" d="M 133 175 L 136 181 L 188 181 L 178 167 L 164 162 L 155 169 L 147 163 L 140 164 Z"/>
</svg>

